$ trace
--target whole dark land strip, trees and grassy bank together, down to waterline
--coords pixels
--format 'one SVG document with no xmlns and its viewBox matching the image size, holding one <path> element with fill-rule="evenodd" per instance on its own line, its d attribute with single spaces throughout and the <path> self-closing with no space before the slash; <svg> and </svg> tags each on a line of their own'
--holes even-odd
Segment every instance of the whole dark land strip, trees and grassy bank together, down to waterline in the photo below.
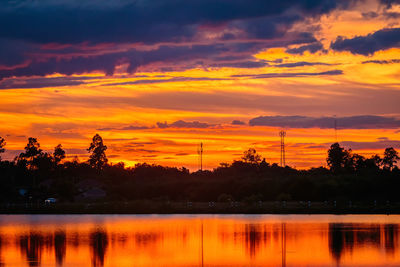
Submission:
<svg viewBox="0 0 400 267">
<path fill-rule="evenodd" d="M 5 145 L 0 138 L 0 153 Z M 108 164 L 106 149 L 95 135 L 87 162 L 66 161 L 61 145 L 45 153 L 29 138 L 13 161 L 0 160 L 0 212 L 400 213 L 399 156 L 393 148 L 382 158 L 365 158 L 334 143 L 329 168 L 309 170 L 269 164 L 249 149 L 239 161 L 197 172 Z"/>
</svg>

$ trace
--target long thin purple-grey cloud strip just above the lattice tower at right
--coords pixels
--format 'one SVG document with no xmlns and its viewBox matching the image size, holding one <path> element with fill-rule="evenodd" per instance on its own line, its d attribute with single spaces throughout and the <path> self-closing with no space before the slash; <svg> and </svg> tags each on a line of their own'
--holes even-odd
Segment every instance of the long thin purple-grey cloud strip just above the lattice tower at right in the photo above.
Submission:
<svg viewBox="0 0 400 267">
<path fill-rule="evenodd" d="M 249 121 L 252 126 L 289 128 L 381 129 L 400 128 L 400 120 L 394 117 L 363 115 L 350 117 L 260 116 Z"/>
</svg>

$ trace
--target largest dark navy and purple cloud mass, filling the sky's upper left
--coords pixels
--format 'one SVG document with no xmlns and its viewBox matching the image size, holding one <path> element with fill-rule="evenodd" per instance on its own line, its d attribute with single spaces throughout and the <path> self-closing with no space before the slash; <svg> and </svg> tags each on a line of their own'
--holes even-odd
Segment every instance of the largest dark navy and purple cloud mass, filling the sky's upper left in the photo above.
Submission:
<svg viewBox="0 0 400 267">
<path fill-rule="evenodd" d="M 0 79 L 92 71 L 112 75 L 115 66 L 121 63 L 129 65 L 130 73 L 148 64 L 171 61 L 181 64 L 160 69 L 176 70 L 182 66 L 187 69 L 199 64 L 205 68 L 263 67 L 267 66 L 266 62 L 252 57 L 262 49 L 303 44 L 297 52 L 292 52 L 317 51 L 318 40 L 313 33 L 293 31 L 293 24 L 333 9 L 347 8 L 353 2 L 355 0 L 3 1 L 0 6 L 0 25 L 3 25 L 0 27 Z M 204 38 L 207 33 L 216 37 L 207 40 Z M 207 41 L 208 45 L 193 45 Z M 120 44 L 135 45 L 135 48 L 120 49 Z M 154 47 L 141 49 L 144 44 Z M 238 59 L 220 61 L 218 56 Z M 196 59 L 204 62 L 196 64 L 193 62 Z M 23 63 L 25 65 L 21 65 Z"/>
</svg>

